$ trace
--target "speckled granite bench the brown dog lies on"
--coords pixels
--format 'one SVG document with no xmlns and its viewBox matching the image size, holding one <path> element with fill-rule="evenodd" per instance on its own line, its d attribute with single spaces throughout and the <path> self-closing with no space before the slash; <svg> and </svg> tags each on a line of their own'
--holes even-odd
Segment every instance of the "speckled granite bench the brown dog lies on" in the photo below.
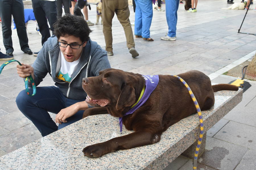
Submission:
<svg viewBox="0 0 256 170">
<path fill-rule="evenodd" d="M 215 92 L 214 107 L 202 112 L 205 132 L 241 100 L 242 89 Z M 132 132 L 123 128 L 121 133 L 118 118 L 108 114 L 89 116 L 0 157 L 0 169 L 160 170 L 197 140 L 198 125 L 194 114 L 168 128 L 158 143 L 88 158 L 83 156 L 84 147 Z"/>
</svg>

